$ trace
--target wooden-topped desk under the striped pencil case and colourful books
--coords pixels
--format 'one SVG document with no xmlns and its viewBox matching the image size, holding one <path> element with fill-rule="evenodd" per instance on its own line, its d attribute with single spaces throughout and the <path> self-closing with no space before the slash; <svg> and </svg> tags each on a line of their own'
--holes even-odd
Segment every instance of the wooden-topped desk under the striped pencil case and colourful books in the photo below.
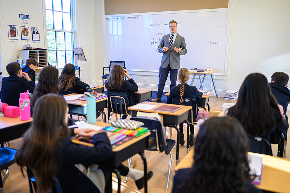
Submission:
<svg viewBox="0 0 290 193">
<path fill-rule="evenodd" d="M 106 126 L 109 126 L 110 124 L 97 122 L 94 125 L 106 127 Z M 144 178 L 147 178 L 147 175 L 146 175 L 147 162 L 146 162 L 145 156 L 143 155 L 143 150 L 148 147 L 149 135 L 150 135 L 150 132 L 144 133 L 143 135 L 139 137 L 134 137 L 133 139 L 125 142 L 124 144 L 117 146 L 116 148 L 113 148 L 113 155 L 112 155 L 113 157 L 111 157 L 108 160 L 104 160 L 101 164 L 104 166 L 116 168 L 123 161 L 127 160 L 128 158 L 138 153 L 144 160 Z M 90 146 L 90 147 L 94 146 L 93 144 L 85 143 L 85 142 L 79 141 L 78 139 L 72 139 L 72 141 L 76 144 L 81 144 L 81 145 Z M 121 177 L 118 171 L 116 173 L 118 177 L 118 192 L 120 192 Z M 147 193 L 147 179 L 145 179 L 144 192 Z"/>
</svg>

